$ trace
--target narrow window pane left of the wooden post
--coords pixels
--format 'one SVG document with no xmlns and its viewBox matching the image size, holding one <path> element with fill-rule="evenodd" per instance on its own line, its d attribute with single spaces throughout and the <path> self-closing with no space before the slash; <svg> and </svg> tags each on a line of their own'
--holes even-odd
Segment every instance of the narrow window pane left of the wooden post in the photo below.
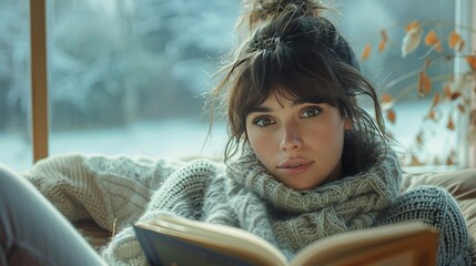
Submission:
<svg viewBox="0 0 476 266">
<path fill-rule="evenodd" d="M 28 0 L 0 0 L 0 162 L 19 170 L 33 162 L 29 16 Z"/>
</svg>

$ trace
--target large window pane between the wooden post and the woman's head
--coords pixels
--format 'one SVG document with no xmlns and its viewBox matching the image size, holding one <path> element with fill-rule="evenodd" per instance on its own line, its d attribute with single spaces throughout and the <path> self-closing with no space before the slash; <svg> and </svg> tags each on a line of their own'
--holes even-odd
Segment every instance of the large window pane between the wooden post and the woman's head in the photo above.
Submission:
<svg viewBox="0 0 476 266">
<path fill-rule="evenodd" d="M 199 155 L 240 1 L 49 1 L 52 154 Z M 215 126 L 202 155 L 221 155 Z"/>
</svg>

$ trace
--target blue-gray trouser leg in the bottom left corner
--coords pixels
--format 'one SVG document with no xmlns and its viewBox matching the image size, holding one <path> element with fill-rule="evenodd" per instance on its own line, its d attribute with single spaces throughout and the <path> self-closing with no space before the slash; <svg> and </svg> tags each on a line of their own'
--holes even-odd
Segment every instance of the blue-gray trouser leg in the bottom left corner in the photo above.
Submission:
<svg viewBox="0 0 476 266">
<path fill-rule="evenodd" d="M 0 265 L 104 265 L 71 223 L 0 164 Z"/>
</svg>

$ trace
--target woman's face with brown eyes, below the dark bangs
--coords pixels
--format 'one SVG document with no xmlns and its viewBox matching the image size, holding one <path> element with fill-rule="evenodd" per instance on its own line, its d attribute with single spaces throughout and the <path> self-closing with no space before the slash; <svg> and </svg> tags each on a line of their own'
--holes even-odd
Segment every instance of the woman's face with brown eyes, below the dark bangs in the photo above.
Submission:
<svg viewBox="0 0 476 266">
<path fill-rule="evenodd" d="M 274 94 L 246 116 L 246 134 L 261 163 L 297 191 L 341 177 L 344 131 L 351 126 L 330 104 Z"/>
</svg>

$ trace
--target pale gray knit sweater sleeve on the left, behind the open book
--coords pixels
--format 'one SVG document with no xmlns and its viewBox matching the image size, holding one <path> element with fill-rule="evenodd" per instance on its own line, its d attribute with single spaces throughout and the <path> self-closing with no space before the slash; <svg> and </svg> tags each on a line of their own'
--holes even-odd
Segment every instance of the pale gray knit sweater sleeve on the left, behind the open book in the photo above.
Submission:
<svg viewBox="0 0 476 266">
<path fill-rule="evenodd" d="M 151 196 L 139 221 L 152 219 L 159 215 L 201 219 L 203 197 L 215 171 L 216 166 L 206 160 L 184 165 L 166 178 Z M 146 265 L 132 225 L 112 237 L 109 245 L 101 250 L 101 256 L 111 265 Z"/>
</svg>

